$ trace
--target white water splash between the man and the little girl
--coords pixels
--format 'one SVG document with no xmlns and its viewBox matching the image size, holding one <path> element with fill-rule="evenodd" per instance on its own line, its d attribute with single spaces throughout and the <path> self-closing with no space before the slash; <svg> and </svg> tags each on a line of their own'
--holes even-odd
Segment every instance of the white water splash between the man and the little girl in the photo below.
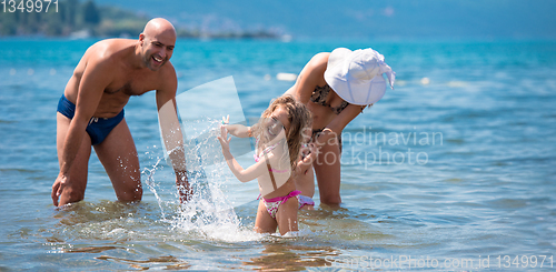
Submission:
<svg viewBox="0 0 556 272">
<path fill-rule="evenodd" d="M 170 199 L 159 193 L 160 184 L 155 180 L 155 173 L 162 168 L 160 162 L 163 158 L 159 158 L 151 169 L 142 171 L 147 175 L 146 184 L 158 201 L 161 222 L 170 224 L 173 231 L 209 240 L 237 242 L 260 239 L 260 234 L 241 223 L 222 191 L 227 178 L 225 174 L 227 165 L 217 139 L 219 121 L 198 120 L 195 122 L 205 122 L 209 125 L 200 128 L 196 131 L 198 137 L 186 140 L 183 144 L 188 181 L 193 190 L 189 202 L 179 204 L 177 190 Z"/>
</svg>

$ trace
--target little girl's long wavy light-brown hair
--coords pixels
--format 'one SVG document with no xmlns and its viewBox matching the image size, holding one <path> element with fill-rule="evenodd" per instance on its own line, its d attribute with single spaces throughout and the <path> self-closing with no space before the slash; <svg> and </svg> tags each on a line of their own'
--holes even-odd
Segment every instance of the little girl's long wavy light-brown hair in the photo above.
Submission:
<svg viewBox="0 0 556 272">
<path fill-rule="evenodd" d="M 299 159 L 301 145 L 309 142 L 310 132 L 307 131 L 311 129 L 312 115 L 305 104 L 297 102 L 294 97 L 285 94 L 270 102 L 270 105 L 262 112 L 261 120 L 270 118 L 279 105 L 284 107 L 288 112 L 289 130 L 286 133 L 286 140 L 288 142 L 289 162 L 291 170 L 294 170 Z M 259 125 L 256 125 L 257 129 L 254 131 L 256 135 L 262 132 L 264 125 L 260 124 L 259 122 Z"/>
</svg>

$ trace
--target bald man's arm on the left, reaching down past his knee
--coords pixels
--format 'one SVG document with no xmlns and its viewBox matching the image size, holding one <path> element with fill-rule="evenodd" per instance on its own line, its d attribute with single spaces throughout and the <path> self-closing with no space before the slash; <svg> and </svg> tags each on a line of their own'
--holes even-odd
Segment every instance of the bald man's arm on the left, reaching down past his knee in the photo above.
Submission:
<svg viewBox="0 0 556 272">
<path fill-rule="evenodd" d="M 52 185 L 52 202 L 58 206 L 66 184 L 71 182 L 70 169 L 85 137 L 89 120 L 95 114 L 106 87 L 112 81 L 113 64 L 110 60 L 95 58 L 88 60 L 79 83 L 76 114 L 70 122 L 63 142 L 60 173 Z"/>
</svg>

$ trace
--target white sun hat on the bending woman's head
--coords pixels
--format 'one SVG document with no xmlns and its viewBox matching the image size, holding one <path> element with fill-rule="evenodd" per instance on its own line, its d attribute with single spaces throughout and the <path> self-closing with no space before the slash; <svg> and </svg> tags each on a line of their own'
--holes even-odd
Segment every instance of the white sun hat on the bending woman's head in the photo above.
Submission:
<svg viewBox="0 0 556 272">
<path fill-rule="evenodd" d="M 370 48 L 355 51 L 337 48 L 328 58 L 325 80 L 341 99 L 351 104 L 366 105 L 377 102 L 385 94 L 383 73 L 394 89 L 396 73 L 384 62 L 384 56 Z"/>
</svg>

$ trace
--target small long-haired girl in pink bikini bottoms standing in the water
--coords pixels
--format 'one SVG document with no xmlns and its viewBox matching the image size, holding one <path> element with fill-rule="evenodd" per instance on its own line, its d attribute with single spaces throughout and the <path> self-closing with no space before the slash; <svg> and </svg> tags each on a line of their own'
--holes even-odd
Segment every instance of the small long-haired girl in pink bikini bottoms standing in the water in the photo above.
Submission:
<svg viewBox="0 0 556 272">
<path fill-rule="evenodd" d="M 255 231 L 280 234 L 298 231 L 296 184 L 291 177 L 297 168 L 308 168 L 310 158 L 300 159 L 304 143 L 310 139 L 311 114 L 291 95 L 274 100 L 257 124 L 251 128 L 241 124 L 222 125 L 218 137 L 222 153 L 231 172 L 241 182 L 257 179 L 260 198 L 255 220 Z M 305 134 L 309 131 L 309 135 Z M 242 169 L 230 153 L 227 133 L 256 139 L 255 164 Z"/>
</svg>

